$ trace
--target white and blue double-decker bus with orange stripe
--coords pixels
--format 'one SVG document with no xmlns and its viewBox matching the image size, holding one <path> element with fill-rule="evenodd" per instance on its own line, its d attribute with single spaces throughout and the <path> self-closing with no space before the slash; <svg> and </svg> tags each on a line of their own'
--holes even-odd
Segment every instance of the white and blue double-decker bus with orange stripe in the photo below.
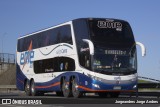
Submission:
<svg viewBox="0 0 160 107">
<path fill-rule="evenodd" d="M 127 21 L 80 18 L 18 38 L 16 86 L 26 95 L 118 97 L 137 90 L 137 52 Z"/>
</svg>

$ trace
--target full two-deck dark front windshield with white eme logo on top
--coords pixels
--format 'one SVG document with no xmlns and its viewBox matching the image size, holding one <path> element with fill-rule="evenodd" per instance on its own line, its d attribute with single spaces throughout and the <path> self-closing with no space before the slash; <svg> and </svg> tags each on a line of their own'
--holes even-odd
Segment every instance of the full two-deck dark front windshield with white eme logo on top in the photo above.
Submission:
<svg viewBox="0 0 160 107">
<path fill-rule="evenodd" d="M 93 68 L 101 73 L 136 72 L 136 47 L 130 25 L 121 20 L 89 20 Z"/>
</svg>

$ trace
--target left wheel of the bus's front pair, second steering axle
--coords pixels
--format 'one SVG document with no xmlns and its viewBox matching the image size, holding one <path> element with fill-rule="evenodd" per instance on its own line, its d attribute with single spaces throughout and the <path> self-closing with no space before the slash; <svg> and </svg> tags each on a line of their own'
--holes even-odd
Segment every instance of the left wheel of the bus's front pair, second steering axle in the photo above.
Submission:
<svg viewBox="0 0 160 107">
<path fill-rule="evenodd" d="M 71 90 L 69 88 L 69 84 L 67 83 L 65 79 L 63 79 L 63 83 L 62 83 L 62 92 L 63 92 L 64 97 L 71 96 Z"/>
</svg>

